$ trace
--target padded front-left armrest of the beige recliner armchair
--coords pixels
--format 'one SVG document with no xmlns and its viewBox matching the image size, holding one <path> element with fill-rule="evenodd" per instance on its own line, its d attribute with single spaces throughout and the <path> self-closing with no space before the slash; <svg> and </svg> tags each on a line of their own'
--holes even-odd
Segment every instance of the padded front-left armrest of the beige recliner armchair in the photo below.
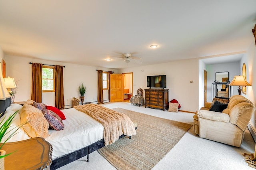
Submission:
<svg viewBox="0 0 256 170">
<path fill-rule="evenodd" d="M 207 111 L 207 110 L 198 110 L 196 111 L 196 114 L 197 114 L 197 117 L 212 120 L 212 121 L 219 121 L 219 122 L 230 121 L 230 117 L 226 113 Z"/>
</svg>

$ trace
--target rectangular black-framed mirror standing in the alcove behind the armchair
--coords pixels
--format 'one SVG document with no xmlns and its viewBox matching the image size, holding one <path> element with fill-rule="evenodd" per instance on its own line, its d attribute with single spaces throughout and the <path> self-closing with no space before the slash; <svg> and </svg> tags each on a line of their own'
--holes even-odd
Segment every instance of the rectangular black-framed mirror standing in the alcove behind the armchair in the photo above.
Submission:
<svg viewBox="0 0 256 170">
<path fill-rule="evenodd" d="M 229 72 L 216 72 L 215 95 L 218 97 L 229 97 Z"/>
</svg>

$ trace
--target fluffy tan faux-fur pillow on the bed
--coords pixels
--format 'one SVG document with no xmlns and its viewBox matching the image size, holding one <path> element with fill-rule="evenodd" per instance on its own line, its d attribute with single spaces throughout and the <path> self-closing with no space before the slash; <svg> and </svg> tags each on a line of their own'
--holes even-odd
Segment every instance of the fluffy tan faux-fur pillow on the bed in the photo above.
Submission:
<svg viewBox="0 0 256 170">
<path fill-rule="evenodd" d="M 34 106 L 24 104 L 20 110 L 20 119 L 21 123 L 28 121 L 28 123 L 23 125 L 23 128 L 27 132 L 28 136 L 32 138 L 46 138 L 49 136 L 49 123 L 44 118 L 42 111 L 35 108 Z"/>
</svg>

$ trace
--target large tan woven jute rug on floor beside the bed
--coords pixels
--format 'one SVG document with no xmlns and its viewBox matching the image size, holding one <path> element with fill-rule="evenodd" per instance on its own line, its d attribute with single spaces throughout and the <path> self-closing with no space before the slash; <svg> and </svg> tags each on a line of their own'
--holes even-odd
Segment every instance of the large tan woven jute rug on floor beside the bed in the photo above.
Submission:
<svg viewBox="0 0 256 170">
<path fill-rule="evenodd" d="M 137 134 L 123 137 L 98 152 L 118 170 L 152 169 L 192 127 L 143 113 L 115 108 L 138 122 Z"/>
</svg>

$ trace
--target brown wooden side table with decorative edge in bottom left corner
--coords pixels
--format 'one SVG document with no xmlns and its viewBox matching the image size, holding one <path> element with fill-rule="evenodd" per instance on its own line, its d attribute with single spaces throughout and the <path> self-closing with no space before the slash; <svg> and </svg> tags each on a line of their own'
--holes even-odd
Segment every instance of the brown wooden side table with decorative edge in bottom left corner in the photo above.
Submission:
<svg viewBox="0 0 256 170">
<path fill-rule="evenodd" d="M 18 142 L 5 143 L 2 150 L 5 170 L 37 170 L 49 168 L 52 163 L 52 145 L 44 138 L 31 138 Z"/>
</svg>

